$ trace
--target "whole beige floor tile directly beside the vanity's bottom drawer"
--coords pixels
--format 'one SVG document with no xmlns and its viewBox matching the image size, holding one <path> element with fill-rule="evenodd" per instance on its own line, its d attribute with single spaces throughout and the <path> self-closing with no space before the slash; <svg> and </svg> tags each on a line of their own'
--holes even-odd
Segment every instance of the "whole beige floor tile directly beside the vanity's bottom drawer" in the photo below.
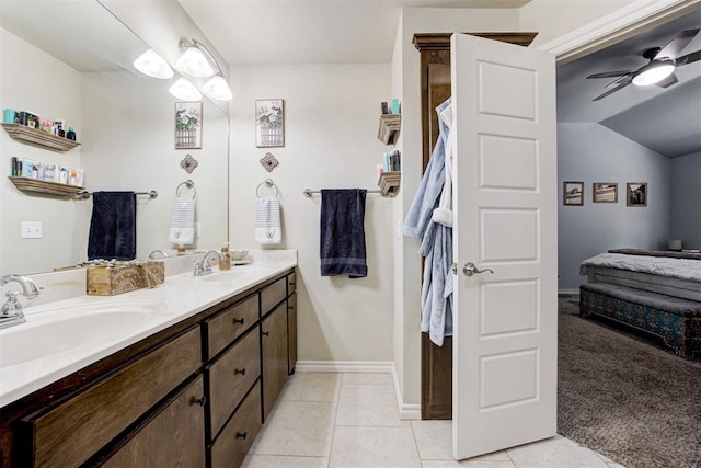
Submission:
<svg viewBox="0 0 701 468">
<path fill-rule="evenodd" d="M 250 453 L 326 457 L 334 411 L 332 402 L 278 401 Z"/>
</svg>

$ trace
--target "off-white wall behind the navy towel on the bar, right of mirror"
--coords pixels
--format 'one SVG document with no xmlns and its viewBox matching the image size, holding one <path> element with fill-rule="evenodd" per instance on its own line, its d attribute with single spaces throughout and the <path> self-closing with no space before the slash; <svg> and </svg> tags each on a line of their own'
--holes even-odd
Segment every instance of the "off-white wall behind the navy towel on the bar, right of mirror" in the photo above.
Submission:
<svg viewBox="0 0 701 468">
<path fill-rule="evenodd" d="M 231 68 L 230 236 L 233 248 L 260 248 L 254 237 L 256 187 L 272 179 L 283 207 L 283 243 L 298 250 L 298 333 L 302 361 L 392 359 L 392 199 L 368 194 L 368 276 L 321 277 L 321 197 L 306 187 L 377 189 L 380 102 L 390 94 L 389 65 Z M 255 100 L 285 100 L 285 147 L 255 147 Z M 279 165 L 258 160 L 271 152 Z M 262 190 L 262 195 L 271 195 Z"/>
</svg>

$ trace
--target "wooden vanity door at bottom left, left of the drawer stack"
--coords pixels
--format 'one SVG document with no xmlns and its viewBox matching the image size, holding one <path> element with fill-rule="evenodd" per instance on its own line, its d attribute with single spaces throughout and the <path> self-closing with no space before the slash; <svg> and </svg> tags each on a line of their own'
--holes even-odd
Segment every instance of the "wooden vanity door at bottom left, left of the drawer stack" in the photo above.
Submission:
<svg viewBox="0 0 701 468">
<path fill-rule="evenodd" d="M 205 413 L 203 377 L 185 387 L 103 466 L 205 466 Z"/>
</svg>

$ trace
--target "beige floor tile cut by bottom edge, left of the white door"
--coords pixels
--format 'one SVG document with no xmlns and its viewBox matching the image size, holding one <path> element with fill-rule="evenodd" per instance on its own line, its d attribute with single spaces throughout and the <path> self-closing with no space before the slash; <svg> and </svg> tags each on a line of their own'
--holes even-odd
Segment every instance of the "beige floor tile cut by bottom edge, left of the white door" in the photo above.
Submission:
<svg viewBox="0 0 701 468">
<path fill-rule="evenodd" d="M 336 426 L 330 467 L 421 468 L 411 427 Z"/>
</svg>

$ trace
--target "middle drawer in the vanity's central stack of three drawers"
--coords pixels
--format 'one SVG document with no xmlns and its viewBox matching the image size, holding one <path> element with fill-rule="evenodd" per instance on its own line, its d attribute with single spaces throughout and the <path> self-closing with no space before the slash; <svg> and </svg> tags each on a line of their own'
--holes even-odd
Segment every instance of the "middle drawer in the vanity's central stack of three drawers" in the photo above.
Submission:
<svg viewBox="0 0 701 468">
<path fill-rule="evenodd" d="M 257 327 L 208 369 L 212 437 L 219 432 L 251 385 L 261 375 L 261 340 Z"/>
</svg>

